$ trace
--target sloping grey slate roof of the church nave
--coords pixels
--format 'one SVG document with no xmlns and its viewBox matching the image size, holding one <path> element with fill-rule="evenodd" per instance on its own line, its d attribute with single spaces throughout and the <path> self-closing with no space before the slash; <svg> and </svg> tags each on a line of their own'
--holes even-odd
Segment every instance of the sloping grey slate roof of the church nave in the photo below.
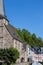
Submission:
<svg viewBox="0 0 43 65">
<path fill-rule="evenodd" d="M 17 28 L 13 27 L 11 24 L 8 24 L 8 25 L 5 25 L 7 30 L 9 31 L 9 33 L 11 34 L 11 36 L 20 41 L 20 42 L 23 42 L 19 36 L 19 34 L 17 33 Z"/>
</svg>

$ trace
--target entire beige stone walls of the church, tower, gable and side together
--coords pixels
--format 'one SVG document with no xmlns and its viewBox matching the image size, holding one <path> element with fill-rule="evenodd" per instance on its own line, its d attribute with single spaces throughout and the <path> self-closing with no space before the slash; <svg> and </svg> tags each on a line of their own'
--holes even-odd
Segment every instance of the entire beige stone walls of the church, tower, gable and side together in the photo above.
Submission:
<svg viewBox="0 0 43 65">
<path fill-rule="evenodd" d="M 20 58 L 17 59 L 17 62 L 27 62 L 27 50 L 22 43 L 10 35 L 5 25 L 8 25 L 8 21 L 5 19 L 0 20 L 0 48 L 9 48 L 14 47 L 20 52 Z"/>
</svg>

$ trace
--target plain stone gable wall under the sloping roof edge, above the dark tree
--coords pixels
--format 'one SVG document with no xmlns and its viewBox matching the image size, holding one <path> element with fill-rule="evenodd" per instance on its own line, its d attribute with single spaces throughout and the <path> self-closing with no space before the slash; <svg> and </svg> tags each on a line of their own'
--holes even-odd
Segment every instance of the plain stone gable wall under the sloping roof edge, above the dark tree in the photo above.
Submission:
<svg viewBox="0 0 43 65">
<path fill-rule="evenodd" d="M 4 27 L 3 27 L 3 47 L 9 48 L 12 46 L 13 46 L 13 38 L 4 25 Z"/>
</svg>

